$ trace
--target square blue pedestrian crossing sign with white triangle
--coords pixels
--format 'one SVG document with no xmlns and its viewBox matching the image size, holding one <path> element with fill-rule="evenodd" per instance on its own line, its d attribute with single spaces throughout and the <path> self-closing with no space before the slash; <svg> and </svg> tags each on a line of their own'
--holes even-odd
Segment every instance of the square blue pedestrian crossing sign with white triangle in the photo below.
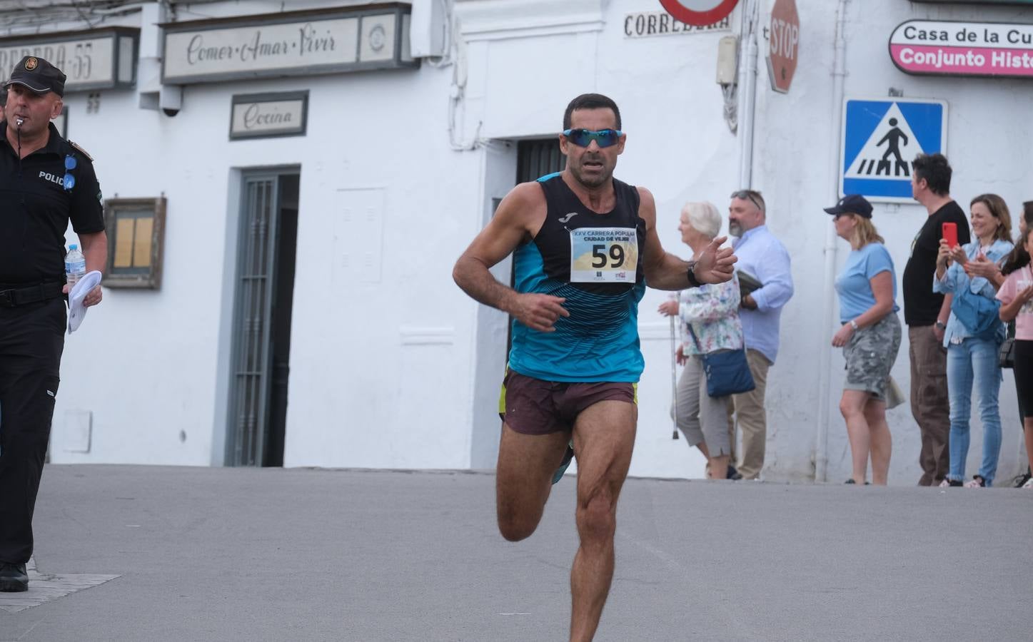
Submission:
<svg viewBox="0 0 1033 642">
<path fill-rule="evenodd" d="M 947 103 L 943 100 L 857 100 L 843 103 L 840 195 L 874 202 L 908 202 L 911 161 L 946 153 Z"/>
</svg>

